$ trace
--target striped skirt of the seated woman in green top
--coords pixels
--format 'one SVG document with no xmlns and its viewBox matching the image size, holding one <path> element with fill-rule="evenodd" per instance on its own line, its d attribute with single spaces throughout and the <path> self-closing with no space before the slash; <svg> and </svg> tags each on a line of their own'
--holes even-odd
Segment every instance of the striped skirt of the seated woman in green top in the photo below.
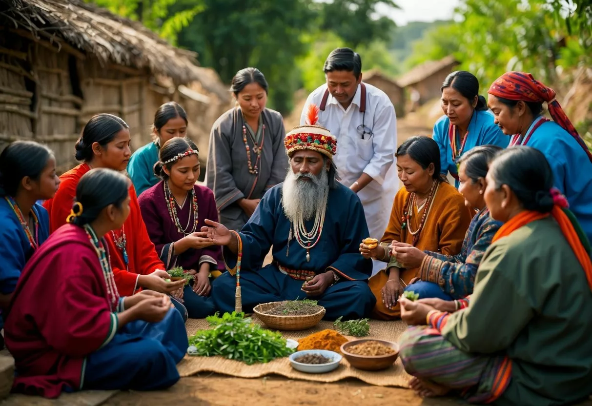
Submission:
<svg viewBox="0 0 592 406">
<path fill-rule="evenodd" d="M 462 352 L 435 328 L 409 327 L 399 344 L 407 373 L 456 389 L 471 403 L 493 402 L 510 383 L 511 361 L 507 356 Z"/>
</svg>

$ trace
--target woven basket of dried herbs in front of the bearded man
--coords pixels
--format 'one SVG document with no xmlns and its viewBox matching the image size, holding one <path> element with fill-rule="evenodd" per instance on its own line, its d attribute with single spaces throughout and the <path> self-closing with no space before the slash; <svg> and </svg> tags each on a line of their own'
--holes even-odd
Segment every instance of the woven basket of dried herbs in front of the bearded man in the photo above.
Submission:
<svg viewBox="0 0 592 406">
<path fill-rule="evenodd" d="M 325 308 L 316 300 L 285 300 L 256 305 L 253 312 L 268 328 L 275 330 L 306 330 L 314 327 L 325 315 Z"/>
</svg>

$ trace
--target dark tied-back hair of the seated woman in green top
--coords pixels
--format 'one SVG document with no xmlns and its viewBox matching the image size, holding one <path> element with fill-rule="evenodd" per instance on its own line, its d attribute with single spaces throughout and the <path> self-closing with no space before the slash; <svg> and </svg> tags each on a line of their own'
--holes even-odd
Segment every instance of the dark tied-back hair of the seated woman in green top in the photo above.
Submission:
<svg viewBox="0 0 592 406">
<path fill-rule="evenodd" d="M 552 210 L 553 171 L 542 152 L 526 146 L 510 147 L 497 153 L 490 168 L 496 188 L 507 185 L 525 210 Z"/>
</svg>

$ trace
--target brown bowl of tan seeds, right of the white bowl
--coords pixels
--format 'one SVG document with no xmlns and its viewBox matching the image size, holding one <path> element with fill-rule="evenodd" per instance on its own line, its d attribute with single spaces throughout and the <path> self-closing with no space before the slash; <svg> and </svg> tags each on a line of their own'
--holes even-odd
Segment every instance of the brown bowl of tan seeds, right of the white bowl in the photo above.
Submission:
<svg viewBox="0 0 592 406">
<path fill-rule="evenodd" d="M 397 360 L 399 346 L 386 340 L 352 340 L 342 344 L 341 352 L 353 368 L 381 370 L 389 368 Z"/>
</svg>

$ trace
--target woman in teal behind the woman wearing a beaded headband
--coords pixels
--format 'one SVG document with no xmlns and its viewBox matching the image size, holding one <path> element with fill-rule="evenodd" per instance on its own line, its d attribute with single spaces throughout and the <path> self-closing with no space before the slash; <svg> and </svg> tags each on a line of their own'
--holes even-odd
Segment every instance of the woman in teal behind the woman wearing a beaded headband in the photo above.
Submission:
<svg viewBox="0 0 592 406">
<path fill-rule="evenodd" d="M 160 182 L 153 170 L 154 164 L 158 162 L 160 147 L 170 138 L 185 137 L 187 124 L 187 114 L 177 102 L 168 102 L 158 108 L 152 124 L 154 141 L 137 149 L 127 164 L 127 173 L 137 196 Z"/>
</svg>

